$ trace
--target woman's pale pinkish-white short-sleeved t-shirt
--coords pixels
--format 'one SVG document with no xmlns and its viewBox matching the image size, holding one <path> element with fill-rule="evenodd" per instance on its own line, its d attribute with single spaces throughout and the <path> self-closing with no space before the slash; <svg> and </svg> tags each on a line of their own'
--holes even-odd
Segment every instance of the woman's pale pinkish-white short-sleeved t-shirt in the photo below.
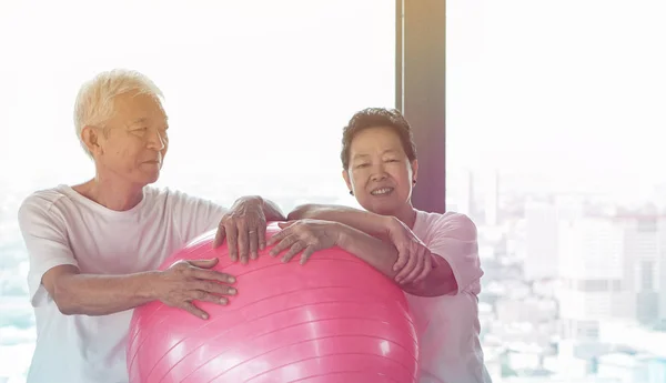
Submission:
<svg viewBox="0 0 666 383">
<path fill-rule="evenodd" d="M 451 264 L 458 285 L 444 296 L 406 294 L 418 331 L 420 383 L 490 383 L 478 339 L 476 226 L 464 214 L 417 211 L 413 232 Z"/>
</svg>

